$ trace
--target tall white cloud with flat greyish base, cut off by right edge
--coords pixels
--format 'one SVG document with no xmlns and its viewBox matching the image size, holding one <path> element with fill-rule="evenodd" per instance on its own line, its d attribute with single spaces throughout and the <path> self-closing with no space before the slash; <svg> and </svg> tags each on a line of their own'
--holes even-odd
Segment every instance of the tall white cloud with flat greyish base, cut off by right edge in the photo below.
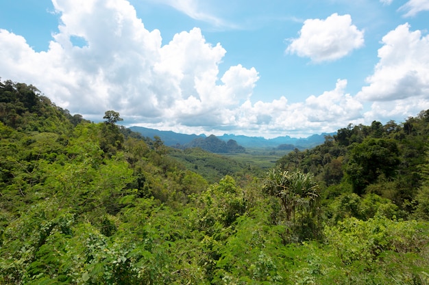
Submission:
<svg viewBox="0 0 429 285">
<path fill-rule="evenodd" d="M 357 97 L 368 101 L 391 101 L 429 94 L 429 36 L 398 26 L 382 38 L 380 61 Z"/>
</svg>

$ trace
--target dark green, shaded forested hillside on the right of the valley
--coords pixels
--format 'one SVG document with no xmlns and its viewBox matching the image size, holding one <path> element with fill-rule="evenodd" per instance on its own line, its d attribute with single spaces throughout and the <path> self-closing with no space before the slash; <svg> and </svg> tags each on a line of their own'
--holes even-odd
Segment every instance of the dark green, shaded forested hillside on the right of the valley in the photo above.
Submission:
<svg viewBox="0 0 429 285">
<path fill-rule="evenodd" d="M 427 173 L 429 110 L 397 124 L 372 122 L 339 129 L 324 144 L 293 151 L 277 163 L 282 169 L 312 173 L 326 187 L 325 195 L 351 191 L 389 198 L 404 209 L 419 193 Z"/>
</svg>

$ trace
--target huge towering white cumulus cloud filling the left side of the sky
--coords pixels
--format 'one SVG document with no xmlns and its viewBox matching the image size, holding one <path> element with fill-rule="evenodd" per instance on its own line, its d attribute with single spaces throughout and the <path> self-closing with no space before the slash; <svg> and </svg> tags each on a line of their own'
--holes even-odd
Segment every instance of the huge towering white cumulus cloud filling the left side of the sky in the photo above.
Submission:
<svg viewBox="0 0 429 285">
<path fill-rule="evenodd" d="M 160 31 L 145 29 L 127 1 L 53 5 L 61 25 L 48 51 L 37 53 L 23 37 L 0 31 L 0 74 L 33 83 L 73 113 L 97 118 L 115 109 L 128 120 L 177 124 L 208 113 L 216 115 L 206 124 L 221 124 L 220 110 L 247 100 L 258 80 L 254 68 L 240 65 L 219 75 L 225 49 L 206 42 L 197 28 L 161 46 Z M 73 46 L 73 37 L 86 45 Z"/>
</svg>

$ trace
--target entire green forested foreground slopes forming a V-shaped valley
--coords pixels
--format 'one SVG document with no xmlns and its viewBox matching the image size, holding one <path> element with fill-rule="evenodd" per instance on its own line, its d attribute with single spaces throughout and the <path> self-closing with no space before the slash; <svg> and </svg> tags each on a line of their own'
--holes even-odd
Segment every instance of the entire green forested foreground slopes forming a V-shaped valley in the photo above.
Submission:
<svg viewBox="0 0 429 285">
<path fill-rule="evenodd" d="M 429 111 L 265 174 L 103 119 L 0 82 L 0 284 L 429 284 Z"/>
</svg>

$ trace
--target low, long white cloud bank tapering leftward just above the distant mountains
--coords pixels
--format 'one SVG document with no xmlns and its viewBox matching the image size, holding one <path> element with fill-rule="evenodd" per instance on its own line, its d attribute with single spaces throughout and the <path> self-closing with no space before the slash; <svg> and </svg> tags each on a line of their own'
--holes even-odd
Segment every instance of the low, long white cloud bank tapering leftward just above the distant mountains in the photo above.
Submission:
<svg viewBox="0 0 429 285">
<path fill-rule="evenodd" d="M 346 87 L 347 81 L 339 79 L 334 90 L 309 96 L 302 103 L 289 103 L 284 96 L 271 102 L 258 101 L 254 104 L 248 99 L 241 105 L 230 105 L 206 113 L 195 112 L 196 115 L 190 112 L 188 117 L 183 114 L 175 116 L 176 119 L 171 118 L 167 124 L 144 126 L 184 133 L 222 135 L 232 132 L 265 137 L 306 137 L 314 133 L 330 133 L 350 123 L 364 122 L 363 105 L 345 93 Z M 198 105 L 195 100 L 190 98 L 182 102 L 176 110 Z"/>
</svg>

